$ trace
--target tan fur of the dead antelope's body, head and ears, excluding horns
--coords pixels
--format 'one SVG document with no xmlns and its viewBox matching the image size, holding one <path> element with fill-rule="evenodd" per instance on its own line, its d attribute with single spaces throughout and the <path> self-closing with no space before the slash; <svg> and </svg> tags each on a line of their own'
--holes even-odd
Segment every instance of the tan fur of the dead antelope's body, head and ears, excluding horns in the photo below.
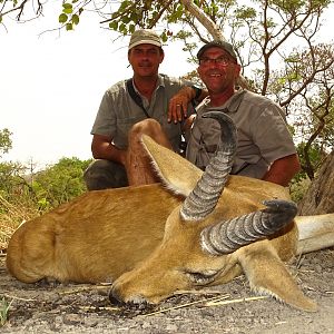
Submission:
<svg viewBox="0 0 334 334">
<path fill-rule="evenodd" d="M 166 186 L 188 195 L 202 171 L 149 137 L 143 141 Z M 160 184 L 90 191 L 20 226 L 9 243 L 7 266 L 27 283 L 45 277 L 80 283 L 115 281 L 115 296 L 150 303 L 176 289 L 223 284 L 244 272 L 254 291 L 314 311 L 315 304 L 298 289 L 283 263 L 298 247 L 295 222 L 271 239 L 229 255 L 208 255 L 200 247 L 205 226 L 255 212 L 264 207 L 264 199 L 273 198 L 289 196 L 281 186 L 232 176 L 215 210 L 195 223 L 180 219 L 184 198 Z M 315 217 L 312 224 L 316 225 Z M 320 247 L 322 236 L 316 236 Z"/>
</svg>

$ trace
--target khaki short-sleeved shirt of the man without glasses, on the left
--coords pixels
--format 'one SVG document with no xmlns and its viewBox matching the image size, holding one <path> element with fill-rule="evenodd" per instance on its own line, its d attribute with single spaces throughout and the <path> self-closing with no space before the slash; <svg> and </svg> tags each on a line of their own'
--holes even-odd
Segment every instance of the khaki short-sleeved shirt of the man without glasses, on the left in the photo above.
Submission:
<svg viewBox="0 0 334 334">
<path fill-rule="evenodd" d="M 183 124 L 167 121 L 168 104 L 169 99 L 185 86 L 191 86 L 191 82 L 159 75 L 158 85 L 150 104 L 141 96 L 143 105 L 148 115 L 159 121 L 175 150 L 179 149 Z M 139 94 L 136 87 L 135 90 Z M 194 114 L 194 110 L 188 110 L 188 112 Z M 125 149 L 128 146 L 130 128 L 146 118 L 143 109 L 128 94 L 126 80 L 122 80 L 105 92 L 90 134 L 110 136 L 118 148 Z"/>
</svg>

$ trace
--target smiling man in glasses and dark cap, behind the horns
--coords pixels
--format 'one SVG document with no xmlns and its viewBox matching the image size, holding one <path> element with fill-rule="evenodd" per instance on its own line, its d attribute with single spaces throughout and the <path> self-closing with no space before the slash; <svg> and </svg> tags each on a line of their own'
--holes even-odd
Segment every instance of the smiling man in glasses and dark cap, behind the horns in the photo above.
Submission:
<svg viewBox="0 0 334 334">
<path fill-rule="evenodd" d="M 287 186 L 301 166 L 282 108 L 264 96 L 236 90 L 240 66 L 230 43 L 208 42 L 199 49 L 197 58 L 197 70 L 209 96 L 197 107 L 187 159 L 199 168 L 207 166 L 219 144 L 220 128 L 202 115 L 209 110 L 226 112 L 238 130 L 232 174 Z"/>
</svg>

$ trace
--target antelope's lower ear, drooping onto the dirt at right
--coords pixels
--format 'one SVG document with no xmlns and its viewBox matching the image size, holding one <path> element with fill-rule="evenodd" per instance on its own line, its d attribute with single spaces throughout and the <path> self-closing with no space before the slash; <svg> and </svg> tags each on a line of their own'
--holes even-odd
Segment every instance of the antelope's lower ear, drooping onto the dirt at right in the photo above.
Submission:
<svg viewBox="0 0 334 334">
<path fill-rule="evenodd" d="M 317 310 L 316 303 L 298 288 L 268 240 L 243 247 L 238 261 L 254 292 L 273 296 L 303 311 Z"/>
</svg>

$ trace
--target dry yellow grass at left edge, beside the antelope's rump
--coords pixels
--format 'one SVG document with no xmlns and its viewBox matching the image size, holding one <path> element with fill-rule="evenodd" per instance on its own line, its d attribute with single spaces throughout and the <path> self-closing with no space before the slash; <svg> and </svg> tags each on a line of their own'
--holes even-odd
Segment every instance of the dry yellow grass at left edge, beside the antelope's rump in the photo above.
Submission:
<svg viewBox="0 0 334 334">
<path fill-rule="evenodd" d="M 0 252 L 7 248 L 9 238 L 17 227 L 39 215 L 37 207 L 18 196 L 9 203 L 0 195 Z"/>
</svg>

